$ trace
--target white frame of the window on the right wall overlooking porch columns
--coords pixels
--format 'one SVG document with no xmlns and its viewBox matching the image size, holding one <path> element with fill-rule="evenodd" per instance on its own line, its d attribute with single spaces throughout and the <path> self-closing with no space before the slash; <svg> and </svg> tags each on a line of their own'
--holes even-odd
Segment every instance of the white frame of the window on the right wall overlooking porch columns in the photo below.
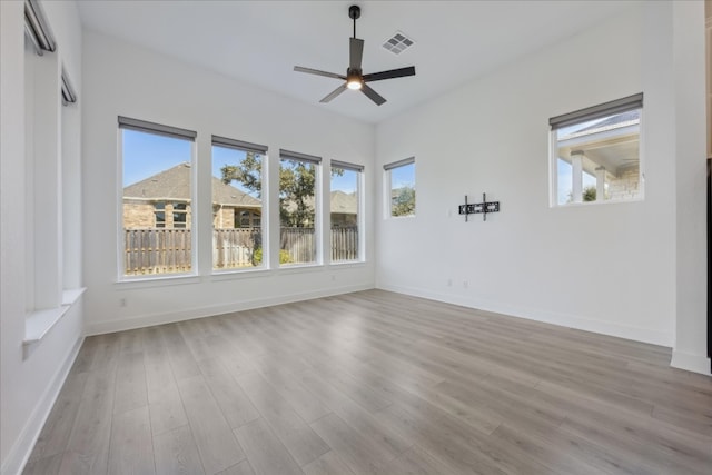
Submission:
<svg viewBox="0 0 712 475">
<path fill-rule="evenodd" d="M 548 140 L 548 168 L 550 168 L 550 207 L 551 208 L 567 208 L 572 206 L 590 206 L 590 205 L 611 205 L 611 204 L 624 204 L 643 201 L 645 198 L 645 170 L 644 170 L 644 107 L 643 107 L 643 92 L 632 96 L 615 99 L 609 102 L 599 103 L 584 109 L 575 110 L 573 112 L 563 113 L 548 119 L 550 125 L 550 140 Z M 605 117 L 616 116 L 633 110 L 639 111 L 637 122 L 637 190 L 635 197 L 624 199 L 595 199 L 592 201 L 572 201 L 572 202 L 558 202 L 558 137 L 557 130 L 582 125 L 595 119 L 603 119 Z M 587 171 L 582 170 L 582 175 Z M 589 174 L 590 175 L 590 174 Z M 607 184 L 607 181 L 606 181 Z M 584 191 L 582 186 L 582 192 Z"/>
</svg>

